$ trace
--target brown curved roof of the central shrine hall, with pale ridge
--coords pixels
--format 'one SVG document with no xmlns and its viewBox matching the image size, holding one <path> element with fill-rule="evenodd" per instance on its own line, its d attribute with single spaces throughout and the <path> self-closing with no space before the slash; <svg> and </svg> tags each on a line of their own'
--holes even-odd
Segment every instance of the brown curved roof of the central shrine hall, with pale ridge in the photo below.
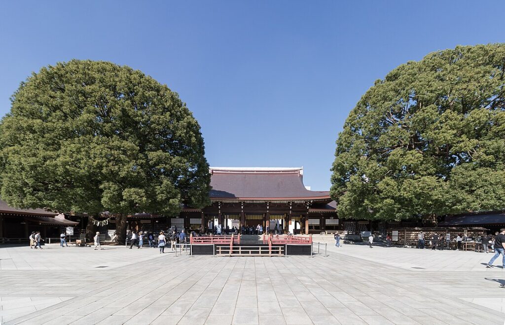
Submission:
<svg viewBox="0 0 505 325">
<path fill-rule="evenodd" d="M 301 168 L 211 168 L 210 172 L 211 199 L 329 199 L 328 193 L 305 188 Z"/>
</svg>

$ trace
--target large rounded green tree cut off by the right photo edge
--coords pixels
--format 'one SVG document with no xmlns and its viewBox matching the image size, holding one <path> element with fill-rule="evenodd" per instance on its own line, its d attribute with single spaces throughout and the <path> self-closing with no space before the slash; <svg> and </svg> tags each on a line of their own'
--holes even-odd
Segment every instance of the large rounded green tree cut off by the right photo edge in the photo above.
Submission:
<svg viewBox="0 0 505 325">
<path fill-rule="evenodd" d="M 377 80 L 339 134 L 338 212 L 401 220 L 505 208 L 505 44 L 458 46 Z"/>
</svg>

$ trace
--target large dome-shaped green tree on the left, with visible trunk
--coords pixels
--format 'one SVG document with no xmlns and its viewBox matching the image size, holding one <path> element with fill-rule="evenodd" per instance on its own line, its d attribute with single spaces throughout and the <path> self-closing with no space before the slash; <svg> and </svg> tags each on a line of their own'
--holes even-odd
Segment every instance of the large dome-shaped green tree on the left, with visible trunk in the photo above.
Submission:
<svg viewBox="0 0 505 325">
<path fill-rule="evenodd" d="M 138 70 L 72 60 L 33 73 L 0 124 L 0 196 L 18 208 L 173 215 L 208 203 L 209 166 L 191 112 Z"/>
</svg>

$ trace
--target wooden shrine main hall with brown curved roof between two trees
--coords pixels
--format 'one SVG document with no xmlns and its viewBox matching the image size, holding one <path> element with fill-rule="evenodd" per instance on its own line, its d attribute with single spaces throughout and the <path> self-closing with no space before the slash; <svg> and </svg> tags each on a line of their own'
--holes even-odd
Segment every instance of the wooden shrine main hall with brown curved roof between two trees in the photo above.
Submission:
<svg viewBox="0 0 505 325">
<path fill-rule="evenodd" d="M 335 201 L 327 191 L 306 188 L 302 168 L 213 167 L 210 173 L 212 205 L 184 207 L 170 227 L 204 233 L 258 225 L 292 234 L 338 229 Z"/>
</svg>

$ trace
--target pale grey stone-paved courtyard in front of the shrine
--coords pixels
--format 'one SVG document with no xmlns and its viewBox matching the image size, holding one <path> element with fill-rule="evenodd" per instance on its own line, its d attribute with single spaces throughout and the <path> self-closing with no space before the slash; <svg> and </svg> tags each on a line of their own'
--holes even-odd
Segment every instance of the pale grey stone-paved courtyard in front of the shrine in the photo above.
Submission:
<svg viewBox="0 0 505 325">
<path fill-rule="evenodd" d="M 328 256 L 0 248 L 2 324 L 500 324 L 491 254 L 345 245 Z M 496 262 L 495 262 L 496 263 Z"/>
</svg>

